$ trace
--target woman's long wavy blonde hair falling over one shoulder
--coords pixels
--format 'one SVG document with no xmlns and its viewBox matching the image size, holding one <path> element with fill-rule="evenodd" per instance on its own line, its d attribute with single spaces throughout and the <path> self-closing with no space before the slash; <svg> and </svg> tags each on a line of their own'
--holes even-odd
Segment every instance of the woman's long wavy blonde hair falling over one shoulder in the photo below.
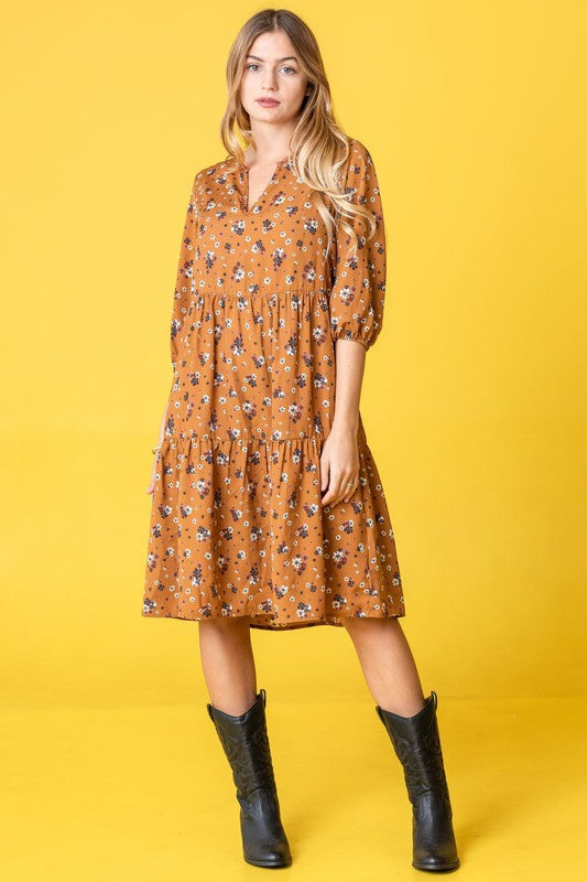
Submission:
<svg viewBox="0 0 587 882">
<path fill-rule="evenodd" d="M 274 31 L 283 31 L 290 37 L 309 88 L 290 142 L 289 162 L 302 182 L 314 191 L 315 206 L 328 234 L 326 254 L 333 245 L 337 225 L 347 233 L 350 250 L 356 251 L 358 237 L 352 224 L 362 218 L 368 227 L 368 239 L 374 234 L 376 222 L 365 205 L 349 202 L 341 171 L 349 159 L 349 139 L 335 119 L 330 87 L 316 37 L 307 24 L 287 9 L 257 12 L 244 22 L 230 46 L 226 65 L 228 101 L 220 123 L 220 136 L 228 151 L 225 162 L 235 171 L 237 164 L 244 161 L 248 146 L 256 148 L 251 119 L 240 100 L 240 82 L 254 40 L 259 34 Z"/>
</svg>

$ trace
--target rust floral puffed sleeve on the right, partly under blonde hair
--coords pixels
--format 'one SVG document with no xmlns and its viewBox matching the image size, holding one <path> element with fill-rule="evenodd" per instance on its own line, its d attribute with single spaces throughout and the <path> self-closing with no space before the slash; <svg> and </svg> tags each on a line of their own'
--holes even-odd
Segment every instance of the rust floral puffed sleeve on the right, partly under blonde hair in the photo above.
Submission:
<svg viewBox="0 0 587 882">
<path fill-rule="evenodd" d="M 357 250 L 348 254 L 350 237 L 338 226 L 335 278 L 330 291 L 330 327 L 334 340 L 356 340 L 366 349 L 376 342 L 383 324 L 385 293 L 385 229 L 376 169 L 365 144 L 350 140 L 345 180 L 347 198 L 370 208 L 376 230 L 362 217 L 350 223 L 358 236 Z"/>
</svg>

